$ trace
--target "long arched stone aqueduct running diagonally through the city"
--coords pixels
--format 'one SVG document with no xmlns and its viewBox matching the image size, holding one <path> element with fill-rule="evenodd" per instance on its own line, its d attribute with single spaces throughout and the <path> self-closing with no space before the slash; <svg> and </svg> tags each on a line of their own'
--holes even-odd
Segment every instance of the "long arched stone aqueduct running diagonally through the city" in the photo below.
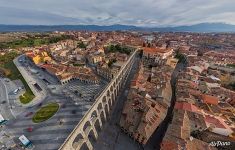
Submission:
<svg viewBox="0 0 235 150">
<path fill-rule="evenodd" d="M 96 98 L 91 108 L 86 112 L 75 129 L 59 148 L 60 150 L 92 150 L 93 143 L 98 138 L 98 132 L 102 129 L 111 108 L 117 99 L 117 95 L 134 64 L 138 50 L 135 50 L 119 73 L 111 80 L 99 97 Z"/>
</svg>

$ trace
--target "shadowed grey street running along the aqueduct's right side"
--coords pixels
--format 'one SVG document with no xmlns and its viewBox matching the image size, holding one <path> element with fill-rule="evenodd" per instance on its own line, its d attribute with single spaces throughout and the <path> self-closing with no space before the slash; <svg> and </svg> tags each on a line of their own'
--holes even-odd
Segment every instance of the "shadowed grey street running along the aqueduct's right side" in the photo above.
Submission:
<svg viewBox="0 0 235 150">
<path fill-rule="evenodd" d="M 93 145 L 95 150 L 136 150 L 141 148 L 138 143 L 135 143 L 131 138 L 126 136 L 118 126 L 122 108 L 130 89 L 131 80 L 137 73 L 139 62 L 140 58 L 136 58 L 132 70 L 127 78 L 127 82 L 121 88 L 121 94 L 118 95 L 117 101 L 112 108 L 111 115 L 108 118 L 109 120 L 102 129 L 97 142 Z"/>
</svg>

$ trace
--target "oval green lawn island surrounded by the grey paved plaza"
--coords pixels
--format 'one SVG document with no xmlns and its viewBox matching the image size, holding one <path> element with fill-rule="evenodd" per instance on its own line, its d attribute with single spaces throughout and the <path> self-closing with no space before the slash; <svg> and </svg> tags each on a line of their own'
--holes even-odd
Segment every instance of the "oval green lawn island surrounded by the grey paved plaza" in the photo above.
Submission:
<svg viewBox="0 0 235 150">
<path fill-rule="evenodd" d="M 33 116 L 32 121 L 34 123 L 40 123 L 43 121 L 48 120 L 52 116 L 56 114 L 56 112 L 59 110 L 59 104 L 58 103 L 50 103 L 43 107 L 41 107 Z"/>
</svg>

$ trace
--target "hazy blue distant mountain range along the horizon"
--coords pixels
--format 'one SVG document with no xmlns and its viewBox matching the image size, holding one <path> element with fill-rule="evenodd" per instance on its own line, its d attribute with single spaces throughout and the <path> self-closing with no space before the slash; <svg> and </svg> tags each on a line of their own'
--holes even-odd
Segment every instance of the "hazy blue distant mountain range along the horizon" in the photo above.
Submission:
<svg viewBox="0 0 235 150">
<path fill-rule="evenodd" d="M 45 31 L 155 31 L 155 32 L 235 32 L 235 25 L 224 23 L 201 23 L 178 27 L 137 27 L 129 25 L 0 25 L 0 32 L 45 32 Z"/>
</svg>

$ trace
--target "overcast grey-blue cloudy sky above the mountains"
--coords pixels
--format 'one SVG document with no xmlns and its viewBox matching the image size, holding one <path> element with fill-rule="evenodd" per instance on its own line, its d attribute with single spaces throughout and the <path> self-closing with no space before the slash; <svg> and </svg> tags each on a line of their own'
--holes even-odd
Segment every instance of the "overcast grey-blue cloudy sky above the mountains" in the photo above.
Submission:
<svg viewBox="0 0 235 150">
<path fill-rule="evenodd" d="M 235 0 L 0 0 L 0 24 L 235 25 Z"/>
</svg>

